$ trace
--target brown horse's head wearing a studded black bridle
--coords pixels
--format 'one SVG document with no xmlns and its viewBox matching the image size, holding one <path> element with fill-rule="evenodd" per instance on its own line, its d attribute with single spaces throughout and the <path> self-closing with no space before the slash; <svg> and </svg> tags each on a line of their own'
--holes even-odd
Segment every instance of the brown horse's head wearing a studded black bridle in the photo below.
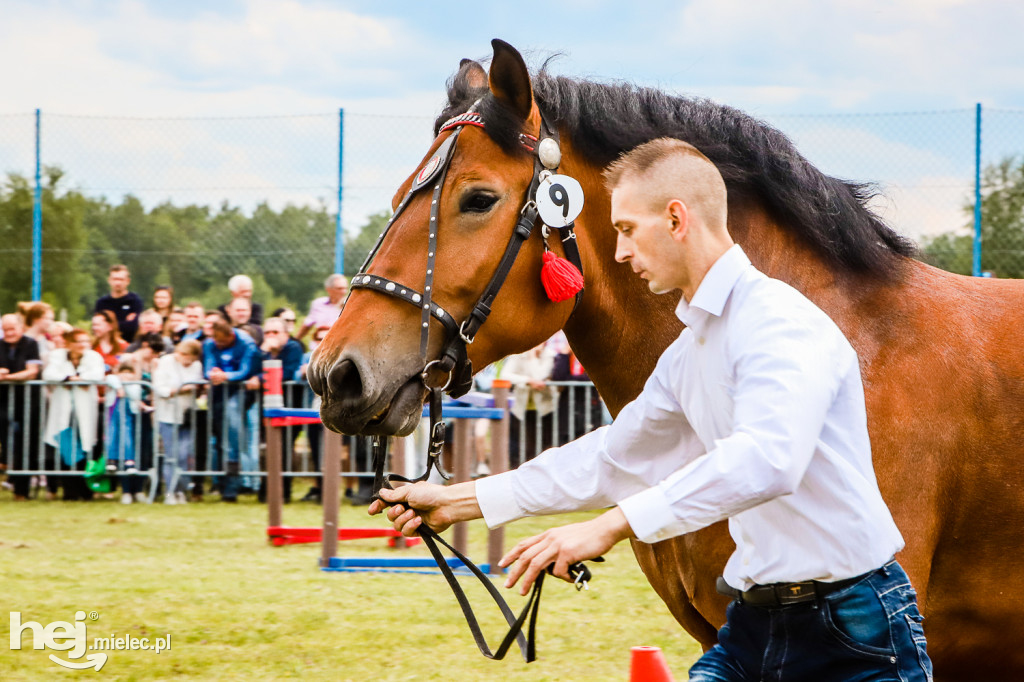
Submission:
<svg viewBox="0 0 1024 682">
<path fill-rule="evenodd" d="M 321 416 L 336 431 L 410 433 L 428 384 L 465 385 L 470 363 L 481 369 L 526 350 L 572 311 L 572 299 L 554 303 L 542 287 L 544 241 L 529 209 L 541 169 L 537 139 L 551 132 L 542 130 L 520 54 L 504 42 L 493 45 L 489 74 L 463 60 L 446 114 L 470 113 L 437 126 L 423 163 L 395 195 L 392 222 L 352 279 L 344 311 L 310 363 Z M 502 125 L 484 129 L 484 120 Z M 524 227 L 531 232 L 522 239 Z M 503 267 L 517 228 L 521 248 Z M 554 249 L 557 238 L 556 231 L 550 240 Z M 505 270 L 495 296 L 496 272 Z"/>
</svg>

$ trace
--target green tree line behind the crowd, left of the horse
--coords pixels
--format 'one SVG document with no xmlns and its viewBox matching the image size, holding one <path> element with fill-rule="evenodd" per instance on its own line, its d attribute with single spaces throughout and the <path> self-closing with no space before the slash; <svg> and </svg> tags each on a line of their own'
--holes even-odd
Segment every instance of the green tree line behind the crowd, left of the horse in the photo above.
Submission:
<svg viewBox="0 0 1024 682">
<path fill-rule="evenodd" d="M 131 270 L 131 290 L 148 304 L 158 285 L 174 288 L 176 304 L 199 300 L 206 306 L 229 299 L 227 280 L 248 274 L 254 300 L 266 309 L 288 306 L 299 314 L 323 295 L 334 268 L 335 216 L 326 206 L 267 204 L 245 212 L 219 207 L 146 208 L 133 196 L 119 203 L 63 186 L 59 168 L 44 169 L 42 190 L 42 298 L 84 321 L 96 298 L 106 293 L 111 265 Z M 0 187 L 0 311 L 29 300 L 32 284 L 34 186 L 10 174 Z M 386 222 L 385 211 L 346 237 L 345 271 L 356 271 Z"/>
</svg>

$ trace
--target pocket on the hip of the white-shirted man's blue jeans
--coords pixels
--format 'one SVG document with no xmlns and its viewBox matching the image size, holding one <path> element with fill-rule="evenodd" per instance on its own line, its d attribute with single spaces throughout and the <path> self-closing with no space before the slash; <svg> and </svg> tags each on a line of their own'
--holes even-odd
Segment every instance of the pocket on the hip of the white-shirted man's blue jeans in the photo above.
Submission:
<svg viewBox="0 0 1024 682">
<path fill-rule="evenodd" d="M 824 599 L 820 611 L 825 632 L 843 649 L 862 657 L 892 662 L 895 651 L 889 619 L 873 590 L 855 589 L 836 601 Z"/>
</svg>

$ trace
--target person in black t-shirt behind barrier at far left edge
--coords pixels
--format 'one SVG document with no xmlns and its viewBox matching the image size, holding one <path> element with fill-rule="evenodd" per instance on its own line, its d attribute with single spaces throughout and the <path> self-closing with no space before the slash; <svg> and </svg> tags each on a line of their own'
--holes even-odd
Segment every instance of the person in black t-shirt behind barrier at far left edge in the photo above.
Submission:
<svg viewBox="0 0 1024 682">
<path fill-rule="evenodd" d="M 3 315 L 0 327 L 3 329 L 0 339 L 0 451 L 3 453 L 0 464 L 9 470 L 34 469 L 38 466 L 39 455 L 39 386 L 25 386 L 22 382 L 39 377 L 39 346 L 34 339 L 25 336 L 22 315 Z M 30 397 L 34 409 L 26 414 L 26 399 Z M 14 486 L 14 499 L 25 500 L 32 477 L 12 475 L 8 478 Z"/>
</svg>

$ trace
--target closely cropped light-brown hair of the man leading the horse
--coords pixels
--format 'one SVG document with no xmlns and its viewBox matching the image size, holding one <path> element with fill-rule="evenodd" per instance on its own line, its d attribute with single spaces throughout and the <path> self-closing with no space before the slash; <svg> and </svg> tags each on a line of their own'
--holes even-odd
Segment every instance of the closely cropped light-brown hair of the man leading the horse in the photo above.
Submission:
<svg viewBox="0 0 1024 682">
<path fill-rule="evenodd" d="M 604 185 L 613 191 L 624 182 L 644 180 L 652 210 L 678 199 L 713 226 L 725 226 L 725 181 L 708 157 L 689 142 L 658 137 L 634 147 L 604 170 Z"/>
</svg>

